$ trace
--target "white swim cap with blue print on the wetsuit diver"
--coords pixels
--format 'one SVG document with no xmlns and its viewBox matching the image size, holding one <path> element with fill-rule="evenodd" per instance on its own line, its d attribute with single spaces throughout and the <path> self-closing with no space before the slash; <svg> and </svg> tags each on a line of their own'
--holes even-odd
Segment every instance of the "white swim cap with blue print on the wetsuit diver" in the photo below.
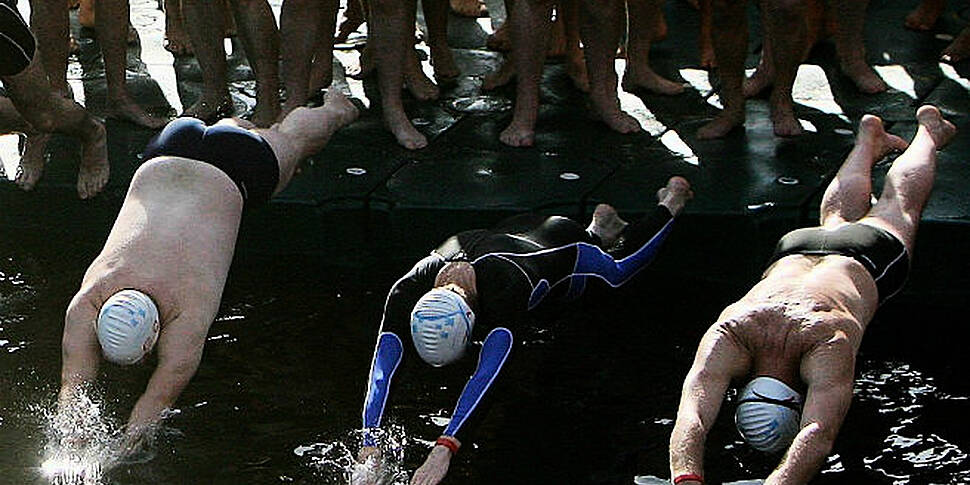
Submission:
<svg viewBox="0 0 970 485">
<path fill-rule="evenodd" d="M 444 288 L 424 294 L 411 310 L 411 338 L 425 362 L 441 367 L 465 353 L 475 325 L 475 312 L 465 299 Z"/>
</svg>

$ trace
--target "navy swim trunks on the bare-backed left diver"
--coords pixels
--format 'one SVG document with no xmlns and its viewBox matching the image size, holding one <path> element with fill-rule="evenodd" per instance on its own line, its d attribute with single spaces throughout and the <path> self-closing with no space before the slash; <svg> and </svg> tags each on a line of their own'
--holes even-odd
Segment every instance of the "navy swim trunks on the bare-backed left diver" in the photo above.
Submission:
<svg viewBox="0 0 970 485">
<path fill-rule="evenodd" d="M 276 154 L 262 137 L 236 126 L 205 126 L 196 118 L 172 121 L 153 139 L 142 156 L 173 156 L 206 162 L 236 183 L 245 205 L 269 201 L 280 181 Z"/>
</svg>

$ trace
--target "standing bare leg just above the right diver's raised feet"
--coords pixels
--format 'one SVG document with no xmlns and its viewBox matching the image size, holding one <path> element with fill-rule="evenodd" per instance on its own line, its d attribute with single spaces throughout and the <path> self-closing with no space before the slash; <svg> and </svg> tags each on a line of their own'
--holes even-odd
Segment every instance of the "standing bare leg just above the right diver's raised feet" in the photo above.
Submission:
<svg viewBox="0 0 970 485">
<path fill-rule="evenodd" d="M 829 13 L 835 16 L 835 51 L 839 66 L 863 93 L 881 93 L 886 83 L 866 64 L 866 46 L 862 38 L 869 0 L 846 2 L 829 0 Z"/>
</svg>

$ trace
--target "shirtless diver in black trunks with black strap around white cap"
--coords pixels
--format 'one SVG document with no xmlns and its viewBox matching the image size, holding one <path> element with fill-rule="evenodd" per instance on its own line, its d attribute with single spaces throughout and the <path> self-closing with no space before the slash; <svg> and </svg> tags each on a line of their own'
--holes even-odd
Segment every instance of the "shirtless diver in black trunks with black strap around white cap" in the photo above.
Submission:
<svg viewBox="0 0 970 485">
<path fill-rule="evenodd" d="M 707 433 L 735 379 L 750 379 L 735 412 L 742 437 L 765 452 L 787 450 L 765 484 L 807 483 L 825 462 L 852 400 L 862 334 L 906 280 L 936 150 L 956 131 L 932 106 L 916 118 L 908 148 L 879 118 L 862 118 L 825 191 L 821 226 L 784 236 L 761 281 L 704 335 L 670 437 L 673 483 L 703 483 Z M 871 205 L 873 164 L 904 148 Z"/>
</svg>

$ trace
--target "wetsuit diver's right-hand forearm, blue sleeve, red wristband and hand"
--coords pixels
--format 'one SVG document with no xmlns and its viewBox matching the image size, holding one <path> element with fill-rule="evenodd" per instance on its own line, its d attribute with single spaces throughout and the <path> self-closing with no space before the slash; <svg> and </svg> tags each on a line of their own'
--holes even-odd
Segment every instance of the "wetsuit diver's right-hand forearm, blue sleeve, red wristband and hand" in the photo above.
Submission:
<svg viewBox="0 0 970 485">
<path fill-rule="evenodd" d="M 427 460 L 414 472 L 411 485 L 437 485 L 445 478 L 451 457 L 461 446 L 458 437 L 468 436 L 470 433 L 469 419 L 476 411 L 480 411 L 482 399 L 492 388 L 511 351 L 512 332 L 509 329 L 498 327 L 489 332 L 478 355 L 478 367 L 461 391 L 461 397 L 458 398 L 458 404 L 451 415 L 451 422 L 431 449 Z"/>
</svg>

